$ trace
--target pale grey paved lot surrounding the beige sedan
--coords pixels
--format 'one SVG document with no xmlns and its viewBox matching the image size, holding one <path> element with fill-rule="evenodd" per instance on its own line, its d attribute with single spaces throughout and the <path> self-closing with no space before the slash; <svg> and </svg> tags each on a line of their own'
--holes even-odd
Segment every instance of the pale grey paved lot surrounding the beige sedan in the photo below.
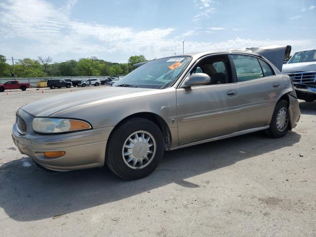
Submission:
<svg viewBox="0 0 316 237">
<path fill-rule="evenodd" d="M 99 89 L 86 87 L 81 89 Z M 284 138 L 167 152 L 149 177 L 47 173 L 11 139 L 15 111 L 70 89 L 0 93 L 0 236 L 316 236 L 316 102 Z"/>
</svg>

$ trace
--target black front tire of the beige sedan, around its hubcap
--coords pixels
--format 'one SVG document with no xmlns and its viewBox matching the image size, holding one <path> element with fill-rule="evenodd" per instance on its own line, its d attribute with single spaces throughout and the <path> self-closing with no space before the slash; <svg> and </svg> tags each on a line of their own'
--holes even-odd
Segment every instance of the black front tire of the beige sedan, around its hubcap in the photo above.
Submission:
<svg viewBox="0 0 316 237">
<path fill-rule="evenodd" d="M 135 133 L 140 140 L 137 140 Z M 147 143 L 142 142 L 142 133 L 145 140 L 149 139 Z M 128 138 L 138 142 L 131 143 Z M 113 173 L 125 180 L 141 179 L 151 174 L 157 168 L 164 153 L 163 137 L 159 127 L 146 118 L 131 118 L 121 124 L 108 141 L 105 162 Z M 136 147 L 135 144 L 139 145 Z M 148 148 L 150 144 L 152 145 Z M 133 148 L 127 149 L 124 145 Z M 135 151 L 137 155 L 134 155 Z M 128 161 L 129 159 L 131 160 Z M 135 164 L 133 164 L 134 160 L 137 160 Z"/>
</svg>

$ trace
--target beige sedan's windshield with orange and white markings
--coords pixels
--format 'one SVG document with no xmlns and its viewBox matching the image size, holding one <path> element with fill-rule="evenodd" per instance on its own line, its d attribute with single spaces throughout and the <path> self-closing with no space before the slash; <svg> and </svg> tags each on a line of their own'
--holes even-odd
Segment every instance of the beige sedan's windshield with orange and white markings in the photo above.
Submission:
<svg viewBox="0 0 316 237">
<path fill-rule="evenodd" d="M 170 87 L 191 61 L 189 56 L 161 58 L 148 62 L 119 80 L 114 86 L 130 85 L 141 88 Z"/>
</svg>

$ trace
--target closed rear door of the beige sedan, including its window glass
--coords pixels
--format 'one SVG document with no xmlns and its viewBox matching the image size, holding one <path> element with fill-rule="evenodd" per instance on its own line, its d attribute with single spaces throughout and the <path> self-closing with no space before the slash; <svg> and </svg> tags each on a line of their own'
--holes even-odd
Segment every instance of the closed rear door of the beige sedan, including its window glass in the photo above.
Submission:
<svg viewBox="0 0 316 237">
<path fill-rule="evenodd" d="M 238 130 L 270 124 L 281 93 L 282 76 L 276 75 L 263 59 L 252 55 L 232 54 L 238 83 L 240 120 Z"/>
</svg>

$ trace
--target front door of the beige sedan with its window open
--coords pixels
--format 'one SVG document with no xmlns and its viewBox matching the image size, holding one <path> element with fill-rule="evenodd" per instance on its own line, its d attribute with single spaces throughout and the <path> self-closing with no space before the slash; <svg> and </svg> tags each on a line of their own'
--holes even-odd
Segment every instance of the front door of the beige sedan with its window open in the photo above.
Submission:
<svg viewBox="0 0 316 237">
<path fill-rule="evenodd" d="M 238 128 L 238 88 L 228 56 L 203 57 L 188 76 L 201 72 L 210 76 L 209 84 L 176 90 L 179 145 L 230 134 Z"/>
</svg>

